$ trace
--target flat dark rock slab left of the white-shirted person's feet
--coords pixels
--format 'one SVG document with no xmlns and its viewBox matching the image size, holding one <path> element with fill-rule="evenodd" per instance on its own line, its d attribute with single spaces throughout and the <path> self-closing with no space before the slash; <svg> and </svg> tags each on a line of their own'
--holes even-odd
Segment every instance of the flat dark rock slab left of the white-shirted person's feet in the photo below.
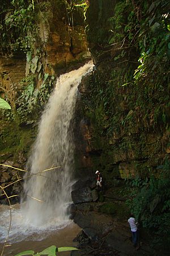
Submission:
<svg viewBox="0 0 170 256">
<path fill-rule="evenodd" d="M 88 214 L 78 212 L 74 216 L 74 221 L 83 229 L 83 232 L 91 240 L 92 244 L 97 242 L 100 246 L 102 241 L 103 247 L 107 251 L 117 251 L 116 255 L 157 255 L 154 249 L 148 246 L 148 241 L 143 239 L 145 237 L 140 238 L 142 246 L 138 251 L 135 250 L 131 242 L 128 221 L 118 221 L 117 218 L 95 212 L 89 212 Z M 82 255 L 88 255 L 88 253 Z"/>
</svg>

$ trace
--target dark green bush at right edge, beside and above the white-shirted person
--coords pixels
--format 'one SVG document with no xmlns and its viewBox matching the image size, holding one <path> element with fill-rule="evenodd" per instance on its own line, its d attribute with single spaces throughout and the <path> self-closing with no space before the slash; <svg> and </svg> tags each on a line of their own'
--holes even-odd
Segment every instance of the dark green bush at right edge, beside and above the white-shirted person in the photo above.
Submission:
<svg viewBox="0 0 170 256">
<path fill-rule="evenodd" d="M 150 180 L 140 178 L 131 181 L 138 187 L 133 191 L 133 199 L 129 202 L 132 212 L 144 228 L 151 230 L 153 242 L 157 245 L 168 245 L 170 242 L 170 161 L 165 160 L 158 178 L 154 175 Z"/>
</svg>

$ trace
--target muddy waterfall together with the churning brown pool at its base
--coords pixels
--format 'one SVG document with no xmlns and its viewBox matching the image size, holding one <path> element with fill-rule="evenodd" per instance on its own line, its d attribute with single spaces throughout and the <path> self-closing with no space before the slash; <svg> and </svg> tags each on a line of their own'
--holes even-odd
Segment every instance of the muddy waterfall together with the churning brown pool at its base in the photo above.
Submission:
<svg viewBox="0 0 170 256">
<path fill-rule="evenodd" d="M 74 246 L 80 228 L 70 220 L 74 178 L 74 110 L 78 85 L 92 63 L 61 75 L 42 113 L 27 163 L 21 204 L 0 206 L 2 255 L 41 251 L 51 245 Z M 10 229 L 9 229 L 10 226 Z M 9 233 L 8 233 L 9 230 Z M 70 255 L 70 252 L 59 253 Z"/>
</svg>

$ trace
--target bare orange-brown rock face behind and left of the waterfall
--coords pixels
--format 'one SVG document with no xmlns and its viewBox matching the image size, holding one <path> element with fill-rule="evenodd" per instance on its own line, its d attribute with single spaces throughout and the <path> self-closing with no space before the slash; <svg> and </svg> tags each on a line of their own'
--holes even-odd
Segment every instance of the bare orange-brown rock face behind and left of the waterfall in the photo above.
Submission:
<svg viewBox="0 0 170 256">
<path fill-rule="evenodd" d="M 80 14 L 79 11 L 75 11 L 74 15 L 77 20 L 74 20 L 74 24 L 70 24 L 67 21 L 68 17 L 65 6 L 60 8 L 57 4 L 57 1 L 52 1 L 54 8 L 53 18 L 50 20 L 49 39 L 42 49 L 44 52 L 41 58 L 37 62 L 41 63 L 40 68 L 43 65 L 44 74 L 54 75 L 55 77 L 61 75 L 61 73 L 77 69 L 91 59 L 84 32 L 83 13 Z M 25 79 L 25 76 L 28 75 L 34 77 L 33 87 L 39 89 L 42 84 L 39 68 L 35 70 L 28 69 L 24 53 L 14 53 L 13 57 L 8 57 L 5 53 L 3 53 L 3 56 L 0 55 L 0 96 L 8 98 L 14 112 L 18 107 L 16 100 L 23 89 L 22 87 L 28 85 L 27 81 L 23 84 L 21 80 Z M 51 85 L 49 84 L 48 86 L 50 87 Z M 50 88 L 51 90 L 52 88 Z M 26 101 L 28 101 L 28 98 Z M 36 113 L 38 118 L 41 115 L 39 111 Z M 24 169 L 29 149 L 36 137 L 36 127 L 29 124 L 26 126 L 25 123 L 21 125 L 17 118 L 14 122 L 12 120 L 8 121 L 6 116 L 1 115 L 1 113 L 0 122 L 0 163 L 6 164 L 6 160 L 8 160 L 10 166 Z M 23 158 L 21 154 L 24 155 Z M 9 185 L 12 181 L 19 179 L 23 175 L 22 172 L 11 170 L 10 167 L 2 167 L 0 173 L 2 187 Z M 7 189 L 10 196 L 15 193 L 20 195 L 21 191 L 22 184 L 19 181 L 15 185 L 10 185 Z M 13 197 L 11 201 L 19 201 L 19 197 L 17 198 Z M 5 203 L 4 196 L 2 203 Z"/>
</svg>

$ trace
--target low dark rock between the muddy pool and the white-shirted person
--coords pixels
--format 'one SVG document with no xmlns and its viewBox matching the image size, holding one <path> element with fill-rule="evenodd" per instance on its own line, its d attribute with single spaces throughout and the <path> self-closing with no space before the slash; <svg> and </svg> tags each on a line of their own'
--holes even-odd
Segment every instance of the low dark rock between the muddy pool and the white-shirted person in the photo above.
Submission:
<svg viewBox="0 0 170 256">
<path fill-rule="evenodd" d="M 136 251 L 131 243 L 131 233 L 127 222 L 120 222 L 115 217 L 99 213 L 76 213 L 75 222 L 82 228 L 74 241 L 79 242 L 80 253 L 71 255 L 154 255 L 155 251 L 143 241 L 141 248 Z M 87 228 L 87 227 L 90 228 Z M 87 246 L 88 245 L 88 246 Z M 90 248 L 90 249 L 89 249 Z M 97 254 L 98 253 L 98 254 Z M 94 254 L 90 254 L 94 255 Z"/>
</svg>

